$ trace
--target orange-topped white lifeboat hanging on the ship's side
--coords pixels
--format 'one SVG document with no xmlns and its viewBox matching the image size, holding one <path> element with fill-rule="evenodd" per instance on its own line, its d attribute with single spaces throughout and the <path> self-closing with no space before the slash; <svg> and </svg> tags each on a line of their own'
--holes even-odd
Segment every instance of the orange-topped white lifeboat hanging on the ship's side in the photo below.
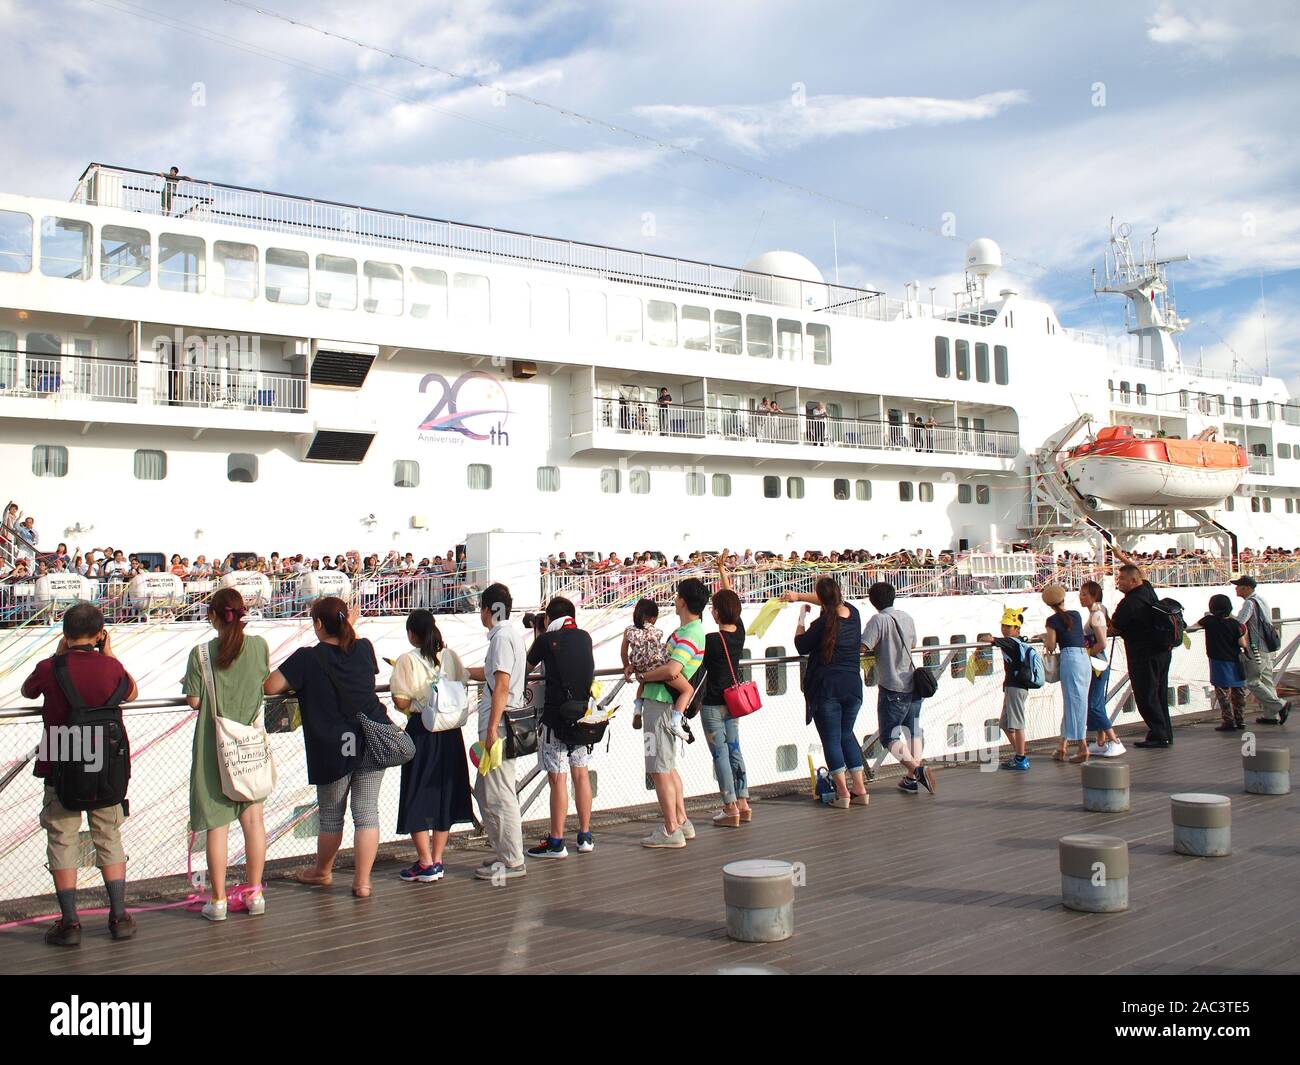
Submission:
<svg viewBox="0 0 1300 1065">
<path fill-rule="evenodd" d="M 1071 447 L 1062 469 L 1093 510 L 1209 507 L 1231 495 L 1249 468 L 1236 443 L 1176 437 L 1139 438 L 1131 425 L 1108 425 Z"/>
</svg>

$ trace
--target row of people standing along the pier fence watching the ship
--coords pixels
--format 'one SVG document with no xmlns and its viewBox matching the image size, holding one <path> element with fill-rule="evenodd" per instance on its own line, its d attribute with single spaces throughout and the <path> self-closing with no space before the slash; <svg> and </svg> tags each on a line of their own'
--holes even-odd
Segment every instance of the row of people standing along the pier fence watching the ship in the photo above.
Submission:
<svg viewBox="0 0 1300 1065">
<path fill-rule="evenodd" d="M 660 627 L 656 605 L 644 599 L 624 632 L 624 683 L 637 685 L 633 727 L 644 731 L 645 771 L 658 804 L 658 823 L 641 840 L 649 849 L 681 849 L 696 837 L 680 772 L 688 757 L 684 740 L 693 741 L 692 722 L 698 723 L 718 782 L 719 810 L 711 824 L 737 830 L 754 818 L 742 737 L 745 717 L 760 706 L 760 697 L 754 685 L 746 690 L 736 671 L 745 623 L 728 563 L 725 554 L 715 560 L 714 580 L 688 576 L 676 584 L 673 616 L 666 619 L 670 624 Z M 1050 612 L 1041 650 L 1039 640 L 1026 638 L 1024 610 L 1004 610 L 1001 635 L 988 644 L 1001 651 L 1004 662 L 1001 728 L 1010 753 L 1002 769 L 1030 769 L 1026 702 L 1031 690 L 1049 680 L 1048 663 L 1062 692 L 1061 736 L 1053 758 L 1079 765 L 1091 757 L 1124 753 L 1106 711 L 1112 668 L 1108 642 L 1113 646 L 1114 640 L 1124 644 L 1132 694 L 1147 726 L 1135 746 L 1158 750 L 1173 745 L 1167 683 L 1171 653 L 1183 642 L 1180 607 L 1161 598 L 1134 562 L 1119 567 L 1115 583 L 1122 598 L 1113 612 L 1102 603 L 1100 584 L 1089 581 L 1079 589 L 1078 609 L 1069 602 L 1066 589 L 1046 586 L 1041 597 Z M 1236 577 L 1232 586 L 1239 610 L 1234 611 L 1227 596 L 1214 596 L 1199 622 L 1206 633 L 1210 680 L 1221 714 L 1218 727 L 1244 727 L 1247 690 L 1261 706 L 1257 723 L 1284 724 L 1291 707 L 1274 687 L 1273 651 L 1279 642 L 1268 605 L 1257 594 L 1253 577 Z M 864 670 L 874 671 L 876 735 L 904 769 L 898 789 L 935 795 L 937 780 L 926 761 L 922 719 L 924 701 L 935 693 L 937 679 L 931 668 L 915 662 L 916 625 L 896 605 L 896 589 L 884 581 L 870 588 L 867 599 L 874 612 L 866 620 L 845 599 L 833 572 L 823 573 L 811 593 L 786 592 L 784 598 L 802 605 L 796 649 L 806 658 L 805 723 L 815 727 L 826 758 L 826 805 L 850 810 L 868 804 L 863 744 L 857 731 Z M 812 607 L 819 612 L 810 622 Z M 263 787 L 254 778 L 237 779 L 225 746 L 231 728 L 244 730 L 244 743 L 250 730 L 256 735 L 266 697 L 291 694 L 295 700 L 307 776 L 316 787 L 317 850 L 315 862 L 295 874 L 302 884 L 333 883 L 351 811 L 352 895 L 369 897 L 380 841 L 380 787 L 384 774 L 398 767 L 402 779 L 396 831 L 411 836 L 415 850 L 415 861 L 399 874 L 406 882 L 428 884 L 443 878 L 448 834 L 455 824 L 472 819 L 472 795 L 490 848 L 474 870 L 478 879 L 500 886 L 525 876 L 530 858 L 568 857 L 571 783 L 577 809 L 576 850 L 585 854 L 595 849 L 589 776 L 595 743 L 584 731 L 590 727 L 584 722 L 594 702 L 595 666 L 592 638 L 577 624 L 577 609 L 555 597 L 543 611 L 525 614 L 520 624 L 511 592 L 503 584 L 486 588 L 478 609 L 488 631 L 481 666 L 467 667 L 446 646 L 429 611 L 415 610 L 407 618 L 408 648 L 393 662 L 390 679 L 393 705 L 407 715 L 406 727 L 399 730 L 377 693 L 377 651 L 354 628 L 355 606 L 335 597 L 316 601 L 311 609 L 316 642 L 273 663 L 266 641 L 244 632 L 247 610 L 240 593 L 224 588 L 212 596 L 207 606 L 212 636 L 191 650 L 182 684 L 196 711 L 190 828 L 205 832 L 205 918 L 224 921 L 233 910 L 254 915 L 266 910 L 261 809 L 273 782 Z M 706 616 L 711 624 L 707 632 Z M 666 635 L 667 629 L 671 632 Z M 125 906 L 121 828 L 130 754 L 120 709 L 134 698 L 136 687 L 113 653 L 98 606 L 81 602 L 69 609 L 62 631 L 55 655 L 36 664 L 22 694 L 42 700 L 44 723 L 34 772 L 44 780 L 40 824 L 60 906 L 46 939 L 52 945 L 70 947 L 81 941 L 82 931 L 77 869 L 83 817 L 108 891 L 109 932 L 113 939 L 129 939 L 136 932 L 135 918 Z M 542 674 L 542 694 L 528 698 L 525 689 L 530 675 L 536 683 L 537 671 Z M 482 694 L 477 705 L 478 741 L 467 757 L 462 728 L 471 713 L 471 681 L 481 685 Z M 94 767 L 88 758 L 72 753 L 66 743 L 69 728 L 91 722 L 109 737 L 107 745 L 99 746 Z M 265 741 L 264 733 L 261 739 Z M 550 818 L 546 837 L 525 848 L 516 762 L 534 754 L 550 785 Z M 473 788 L 469 761 L 477 769 Z M 237 821 L 243 830 L 248 879 L 228 891 L 228 836 Z"/>
</svg>

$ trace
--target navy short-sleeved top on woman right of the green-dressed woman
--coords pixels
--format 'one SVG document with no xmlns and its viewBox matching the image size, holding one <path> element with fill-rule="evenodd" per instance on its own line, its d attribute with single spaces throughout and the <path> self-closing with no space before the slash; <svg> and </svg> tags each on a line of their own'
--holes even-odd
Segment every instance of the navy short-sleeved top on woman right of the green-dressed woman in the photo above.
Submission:
<svg viewBox="0 0 1300 1065">
<path fill-rule="evenodd" d="M 342 707 L 321 664 L 321 653 L 329 655 L 334 667 L 343 693 Z M 387 720 L 387 711 L 374 694 L 374 675 L 380 666 L 370 641 L 358 640 L 347 654 L 333 644 L 299 648 L 283 661 L 280 671 L 298 693 L 303 711 L 307 783 L 329 784 L 347 776 L 356 769 L 364 750 L 356 715 L 364 713 L 373 720 Z M 351 753 L 344 754 L 344 750 Z"/>
</svg>

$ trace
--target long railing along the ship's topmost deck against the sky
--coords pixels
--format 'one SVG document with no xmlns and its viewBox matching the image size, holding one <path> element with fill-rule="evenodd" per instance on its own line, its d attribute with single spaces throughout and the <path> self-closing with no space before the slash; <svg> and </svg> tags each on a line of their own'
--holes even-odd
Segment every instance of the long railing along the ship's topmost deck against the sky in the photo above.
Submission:
<svg viewBox="0 0 1300 1065">
<path fill-rule="evenodd" d="M 99 163 L 87 168 L 73 192 L 73 202 L 144 215 L 224 222 L 269 233 L 324 237 L 370 247 L 525 264 L 560 273 L 598 274 L 658 287 L 800 307 L 814 313 L 885 320 L 892 309 L 883 294 L 846 285 L 815 283 L 712 263 L 394 211 L 374 211 L 211 181 L 169 182 L 162 174 Z M 893 309 L 897 311 L 896 307 Z"/>
</svg>

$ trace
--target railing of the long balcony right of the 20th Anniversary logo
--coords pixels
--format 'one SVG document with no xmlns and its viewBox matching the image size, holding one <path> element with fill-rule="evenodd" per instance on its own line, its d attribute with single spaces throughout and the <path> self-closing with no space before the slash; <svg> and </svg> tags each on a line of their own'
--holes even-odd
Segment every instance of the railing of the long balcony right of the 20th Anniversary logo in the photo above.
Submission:
<svg viewBox="0 0 1300 1065">
<path fill-rule="evenodd" d="M 658 407 L 653 402 L 595 397 L 597 429 L 632 436 L 733 440 L 807 447 L 854 447 L 940 455 L 1015 458 L 1018 433 L 936 425 L 920 428 L 850 417 L 809 417 L 724 407 Z"/>
</svg>

